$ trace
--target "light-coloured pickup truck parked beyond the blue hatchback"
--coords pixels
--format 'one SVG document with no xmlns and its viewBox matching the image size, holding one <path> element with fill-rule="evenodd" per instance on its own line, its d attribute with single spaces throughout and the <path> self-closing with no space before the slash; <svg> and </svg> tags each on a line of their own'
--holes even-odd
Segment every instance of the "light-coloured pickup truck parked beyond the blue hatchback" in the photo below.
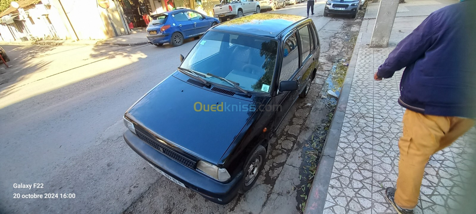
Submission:
<svg viewBox="0 0 476 214">
<path fill-rule="evenodd" d="M 221 0 L 220 4 L 213 7 L 213 17 L 223 22 L 260 11 L 258 0 Z"/>
</svg>

